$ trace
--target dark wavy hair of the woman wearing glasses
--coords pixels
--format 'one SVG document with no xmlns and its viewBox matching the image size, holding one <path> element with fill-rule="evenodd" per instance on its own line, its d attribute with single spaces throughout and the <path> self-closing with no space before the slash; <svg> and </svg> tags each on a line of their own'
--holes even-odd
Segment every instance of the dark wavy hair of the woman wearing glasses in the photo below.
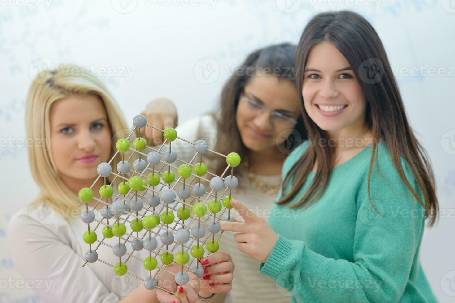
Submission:
<svg viewBox="0 0 455 303">
<path fill-rule="evenodd" d="M 215 145 L 215 150 L 222 154 L 228 154 L 235 151 L 245 162 L 245 156 L 248 154 L 248 148 L 243 144 L 240 132 L 236 122 L 236 112 L 240 94 L 243 88 L 248 84 L 249 80 L 257 75 L 257 72 L 276 76 L 283 81 L 289 81 L 295 85 L 295 51 L 296 46 L 290 43 L 282 43 L 278 45 L 270 45 L 259 50 L 253 51 L 248 55 L 247 59 L 236 68 L 233 75 L 229 78 L 222 89 L 220 108 L 217 110 L 219 115 L 212 115 L 217 120 L 218 140 Z M 254 72 L 245 72 L 254 70 Z M 269 72 L 268 72 L 269 71 Z M 303 124 L 302 117 L 299 116 L 297 124 L 294 127 L 303 139 L 307 138 L 307 133 Z M 297 145 L 293 146 L 296 148 Z M 277 153 L 279 153 L 277 147 Z M 226 169 L 225 159 L 215 160 L 215 174 L 221 175 Z M 240 178 L 242 175 L 243 165 L 236 167 L 236 176 Z"/>
</svg>

